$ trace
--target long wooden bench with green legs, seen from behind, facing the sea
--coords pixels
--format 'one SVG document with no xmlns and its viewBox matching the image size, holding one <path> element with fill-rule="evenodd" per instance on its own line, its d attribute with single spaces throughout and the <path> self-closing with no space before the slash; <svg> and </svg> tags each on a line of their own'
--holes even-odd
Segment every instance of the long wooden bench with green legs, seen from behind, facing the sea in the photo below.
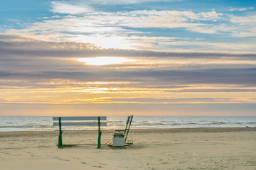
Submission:
<svg viewBox="0 0 256 170">
<path fill-rule="evenodd" d="M 103 121 L 102 121 L 103 120 Z M 75 127 L 85 127 L 85 126 L 98 126 L 98 140 L 97 148 L 101 146 L 101 134 L 100 126 L 107 126 L 106 116 L 77 116 L 77 117 L 53 117 L 53 126 L 59 127 L 59 137 L 58 137 L 58 147 L 70 147 L 71 145 L 63 145 L 62 133 L 63 131 L 81 131 L 74 130 Z M 63 126 L 73 127 L 72 130 L 63 130 Z M 85 131 L 85 130 L 82 130 Z"/>
</svg>

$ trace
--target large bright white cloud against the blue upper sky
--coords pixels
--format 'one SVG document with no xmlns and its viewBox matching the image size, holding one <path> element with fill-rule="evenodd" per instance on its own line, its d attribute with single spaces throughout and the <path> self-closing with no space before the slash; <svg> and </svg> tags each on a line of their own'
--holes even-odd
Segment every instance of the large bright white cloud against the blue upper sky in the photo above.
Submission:
<svg viewBox="0 0 256 170">
<path fill-rule="evenodd" d="M 68 10 L 63 9 L 63 11 Z M 142 29 L 137 30 L 138 28 L 181 28 L 201 32 L 201 28 L 207 27 L 206 23 L 201 23 L 201 21 L 214 22 L 221 16 L 223 16 L 222 13 L 215 11 L 207 13 L 156 10 L 86 12 L 80 13 L 79 16 L 47 18 L 43 22 L 33 23 L 26 29 L 13 29 L 6 33 L 33 35 L 35 38 L 47 41 L 88 42 L 103 48 L 136 49 L 146 47 L 144 42 L 146 38 L 142 35 L 147 36 L 148 42 L 154 39 L 152 38 L 154 33 L 145 32 Z M 134 43 L 134 40 L 137 42 Z M 154 48 L 159 50 L 159 45 L 155 44 Z"/>
</svg>

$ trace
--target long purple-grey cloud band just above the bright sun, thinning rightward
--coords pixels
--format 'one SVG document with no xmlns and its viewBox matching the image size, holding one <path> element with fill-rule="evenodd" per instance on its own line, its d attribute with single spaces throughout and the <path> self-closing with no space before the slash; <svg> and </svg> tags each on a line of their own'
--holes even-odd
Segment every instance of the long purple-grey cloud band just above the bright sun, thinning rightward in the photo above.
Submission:
<svg viewBox="0 0 256 170">
<path fill-rule="evenodd" d="M 168 38 L 176 40 L 178 38 Z M 166 38 L 151 38 L 149 40 L 162 41 Z M 182 43 L 182 42 L 178 42 Z M 202 42 L 203 43 L 203 42 Z M 188 45 L 185 43 L 185 45 Z M 233 45 L 233 44 L 230 44 Z M 53 42 L 35 40 L 19 35 L 0 34 L 1 56 L 33 56 L 33 57 L 98 57 L 98 56 L 123 56 L 123 57 L 242 57 L 254 59 L 255 53 L 249 52 L 157 52 L 153 50 L 122 50 L 104 49 L 90 43 L 82 42 Z"/>
</svg>

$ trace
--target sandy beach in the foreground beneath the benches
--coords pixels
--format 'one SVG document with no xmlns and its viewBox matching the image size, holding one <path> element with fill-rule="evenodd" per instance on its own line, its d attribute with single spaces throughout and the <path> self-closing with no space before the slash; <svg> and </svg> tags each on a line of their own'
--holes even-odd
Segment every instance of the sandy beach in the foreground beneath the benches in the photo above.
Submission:
<svg viewBox="0 0 256 170">
<path fill-rule="evenodd" d="M 102 143 L 113 131 L 102 132 Z M 58 132 L 0 132 L 0 169 L 256 169 L 256 128 L 130 130 L 125 148 L 59 149 Z M 63 132 L 65 144 L 96 144 L 97 132 Z"/>
</svg>

